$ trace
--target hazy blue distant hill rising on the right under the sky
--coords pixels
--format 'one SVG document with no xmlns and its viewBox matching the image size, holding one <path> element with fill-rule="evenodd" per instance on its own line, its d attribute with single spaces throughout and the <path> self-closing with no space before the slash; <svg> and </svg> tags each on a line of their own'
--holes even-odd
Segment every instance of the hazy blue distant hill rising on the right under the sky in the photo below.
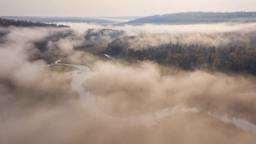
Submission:
<svg viewBox="0 0 256 144">
<path fill-rule="evenodd" d="M 256 12 L 184 12 L 138 18 L 119 25 L 201 24 L 218 22 L 256 22 Z"/>
</svg>

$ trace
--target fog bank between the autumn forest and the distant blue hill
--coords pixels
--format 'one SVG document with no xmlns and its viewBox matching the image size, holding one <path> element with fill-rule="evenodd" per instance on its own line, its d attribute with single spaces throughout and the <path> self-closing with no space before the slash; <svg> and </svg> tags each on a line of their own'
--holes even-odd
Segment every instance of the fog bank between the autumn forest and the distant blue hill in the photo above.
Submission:
<svg viewBox="0 0 256 144">
<path fill-rule="evenodd" d="M 128 40 L 130 48 L 143 49 L 148 45 L 182 43 L 199 44 L 203 46 L 228 46 L 248 44 L 255 41 L 256 23 L 218 23 L 218 24 L 191 24 L 191 25 L 154 25 L 142 26 L 102 26 L 99 24 L 58 23 L 69 25 L 80 34 L 88 28 L 110 28 L 126 31 L 126 36 L 137 36 Z"/>
</svg>

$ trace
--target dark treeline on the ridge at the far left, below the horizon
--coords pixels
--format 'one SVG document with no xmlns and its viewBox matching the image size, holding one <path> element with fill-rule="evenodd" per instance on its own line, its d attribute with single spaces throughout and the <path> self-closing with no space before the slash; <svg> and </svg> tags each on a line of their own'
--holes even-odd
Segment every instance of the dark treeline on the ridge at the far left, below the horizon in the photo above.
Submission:
<svg viewBox="0 0 256 144">
<path fill-rule="evenodd" d="M 42 22 L 31 22 L 31 21 L 24 21 L 24 20 L 9 20 L 9 19 L 2 19 L 0 18 L 0 26 L 25 26 L 25 27 L 33 27 L 33 26 L 40 26 L 40 27 L 46 27 L 46 26 L 52 26 L 52 27 L 69 27 L 64 26 L 63 24 L 57 25 L 57 24 L 46 24 Z"/>
</svg>

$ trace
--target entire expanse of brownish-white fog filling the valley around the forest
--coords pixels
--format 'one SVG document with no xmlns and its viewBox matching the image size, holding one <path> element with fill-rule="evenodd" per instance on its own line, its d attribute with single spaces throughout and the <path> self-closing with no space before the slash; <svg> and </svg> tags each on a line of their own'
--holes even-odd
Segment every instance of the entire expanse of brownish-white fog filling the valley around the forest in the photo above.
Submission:
<svg viewBox="0 0 256 144">
<path fill-rule="evenodd" d="M 66 24 L 66 23 L 65 23 Z M 133 48 L 184 42 L 224 46 L 255 38 L 255 23 L 101 26 L 67 23 L 71 28 L 0 28 L 0 143 L 38 144 L 254 144 L 255 134 L 212 115 L 256 124 L 256 78 L 204 70 L 185 71 L 152 61 L 128 63 L 76 49 L 88 42 L 136 36 Z M 111 28 L 86 39 L 88 28 Z M 100 30 L 94 30 L 95 33 Z M 114 34 L 116 37 L 111 36 Z M 178 37 L 178 38 L 177 38 Z M 140 44 L 140 46 L 138 46 Z M 96 45 L 97 46 L 97 45 Z M 72 75 L 52 71 L 56 60 L 88 66 L 83 82 L 109 119 L 92 115 L 72 90 Z M 180 112 L 197 108 L 198 112 Z M 136 117 L 167 109 L 153 125 Z M 176 110 L 175 112 L 173 112 Z M 135 117 L 134 122 L 124 120 Z"/>
</svg>

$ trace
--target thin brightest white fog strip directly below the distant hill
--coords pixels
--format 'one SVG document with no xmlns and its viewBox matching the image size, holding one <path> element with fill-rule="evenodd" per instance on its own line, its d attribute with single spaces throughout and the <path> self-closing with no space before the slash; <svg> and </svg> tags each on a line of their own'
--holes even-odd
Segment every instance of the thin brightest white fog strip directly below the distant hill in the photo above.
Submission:
<svg viewBox="0 0 256 144">
<path fill-rule="evenodd" d="M 70 26 L 74 30 L 83 31 L 88 28 L 112 28 L 117 30 L 125 30 L 130 35 L 136 35 L 141 33 L 166 33 L 166 32 L 228 32 L 236 30 L 246 30 L 248 28 L 255 27 L 255 23 L 234 23 L 224 22 L 217 24 L 188 24 L 188 25 L 155 25 L 155 24 L 144 24 L 139 26 L 125 25 L 106 25 L 100 24 L 88 24 L 88 23 L 72 23 L 62 22 L 57 24 L 64 24 Z"/>
</svg>

